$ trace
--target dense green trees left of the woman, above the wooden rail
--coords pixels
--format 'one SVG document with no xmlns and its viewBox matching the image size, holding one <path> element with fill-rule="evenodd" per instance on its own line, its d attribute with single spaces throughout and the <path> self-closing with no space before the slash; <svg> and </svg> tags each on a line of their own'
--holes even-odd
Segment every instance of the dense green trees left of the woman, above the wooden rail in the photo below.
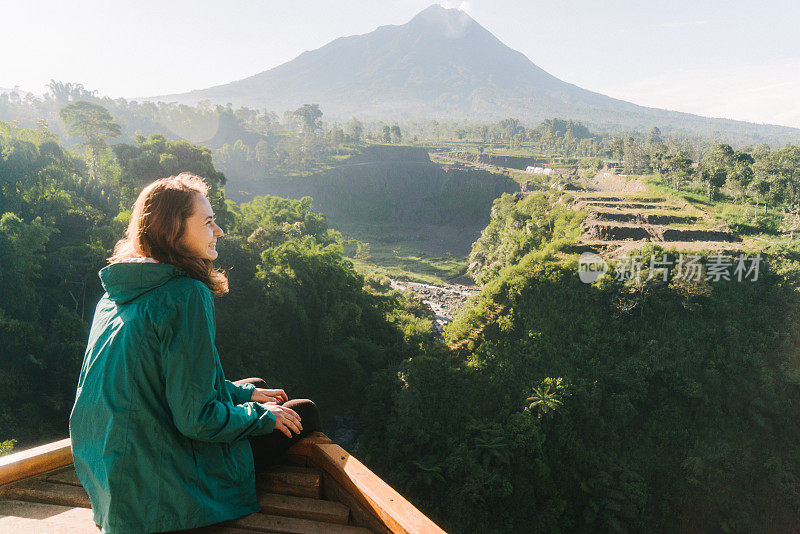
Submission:
<svg viewBox="0 0 800 534">
<path fill-rule="evenodd" d="M 0 426 L 30 443 L 66 429 L 110 202 L 44 130 L 0 127 L 0 294 L 13 296 L 0 301 L 0 404 L 13 407 Z"/>
</svg>

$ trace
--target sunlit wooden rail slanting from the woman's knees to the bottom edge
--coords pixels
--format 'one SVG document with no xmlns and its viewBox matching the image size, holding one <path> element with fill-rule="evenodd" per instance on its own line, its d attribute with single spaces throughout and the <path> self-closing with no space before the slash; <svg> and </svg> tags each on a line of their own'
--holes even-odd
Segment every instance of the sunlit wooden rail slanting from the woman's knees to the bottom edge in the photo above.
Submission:
<svg viewBox="0 0 800 534">
<path fill-rule="evenodd" d="M 436 523 L 340 446 L 315 444 L 312 448 L 312 460 L 315 465 L 330 473 L 392 532 L 444 533 Z"/>
</svg>

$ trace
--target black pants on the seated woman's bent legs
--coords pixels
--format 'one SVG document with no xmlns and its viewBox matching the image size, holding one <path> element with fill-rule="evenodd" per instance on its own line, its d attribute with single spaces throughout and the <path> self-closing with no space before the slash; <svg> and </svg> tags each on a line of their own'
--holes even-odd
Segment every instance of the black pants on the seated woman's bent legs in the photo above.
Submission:
<svg viewBox="0 0 800 534">
<path fill-rule="evenodd" d="M 243 378 L 236 381 L 237 384 L 253 384 L 258 388 L 267 388 L 267 383 L 260 378 Z M 286 449 L 300 441 L 303 437 L 312 432 L 321 432 L 322 423 L 319 418 L 319 410 L 314 401 L 309 399 L 290 399 L 280 403 L 281 406 L 291 408 L 300 416 L 300 423 L 303 430 L 299 434 L 292 433 L 289 438 L 280 430 L 273 430 L 269 434 L 261 436 L 247 436 L 250 447 L 253 449 L 253 461 L 255 462 L 256 472 L 264 470 L 271 465 L 275 459 L 286 452 Z"/>
</svg>

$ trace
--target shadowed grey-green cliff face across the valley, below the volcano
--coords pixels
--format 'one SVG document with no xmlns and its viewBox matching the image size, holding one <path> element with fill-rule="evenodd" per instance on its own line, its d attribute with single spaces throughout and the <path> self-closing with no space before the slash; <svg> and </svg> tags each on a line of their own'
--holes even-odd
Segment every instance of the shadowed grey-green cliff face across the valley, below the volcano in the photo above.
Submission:
<svg viewBox="0 0 800 534">
<path fill-rule="evenodd" d="M 238 177 L 225 172 L 226 193 L 231 191 L 229 198 L 237 202 L 265 194 L 310 196 L 314 211 L 324 213 L 334 228 L 358 232 L 381 225 L 399 234 L 442 234 L 434 248 L 459 255 L 469 252 L 489 222 L 494 199 L 519 191 L 507 176 L 443 167 L 416 147 L 367 147 L 340 165 L 309 176 Z M 251 194 L 233 193 L 245 181 Z"/>
</svg>

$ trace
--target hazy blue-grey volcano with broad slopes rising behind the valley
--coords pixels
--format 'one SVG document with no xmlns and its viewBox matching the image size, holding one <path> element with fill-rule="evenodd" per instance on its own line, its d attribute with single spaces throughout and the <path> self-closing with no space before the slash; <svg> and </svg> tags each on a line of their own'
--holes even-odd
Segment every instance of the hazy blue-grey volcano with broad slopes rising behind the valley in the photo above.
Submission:
<svg viewBox="0 0 800 534">
<path fill-rule="evenodd" d="M 341 37 L 243 80 L 153 99 L 209 99 L 279 112 L 315 102 L 326 116 L 339 118 L 563 117 L 611 127 L 658 125 L 704 134 L 739 132 L 753 140 L 800 139 L 794 128 L 707 119 L 587 91 L 537 67 L 466 13 L 438 5 L 407 24 Z"/>
</svg>

